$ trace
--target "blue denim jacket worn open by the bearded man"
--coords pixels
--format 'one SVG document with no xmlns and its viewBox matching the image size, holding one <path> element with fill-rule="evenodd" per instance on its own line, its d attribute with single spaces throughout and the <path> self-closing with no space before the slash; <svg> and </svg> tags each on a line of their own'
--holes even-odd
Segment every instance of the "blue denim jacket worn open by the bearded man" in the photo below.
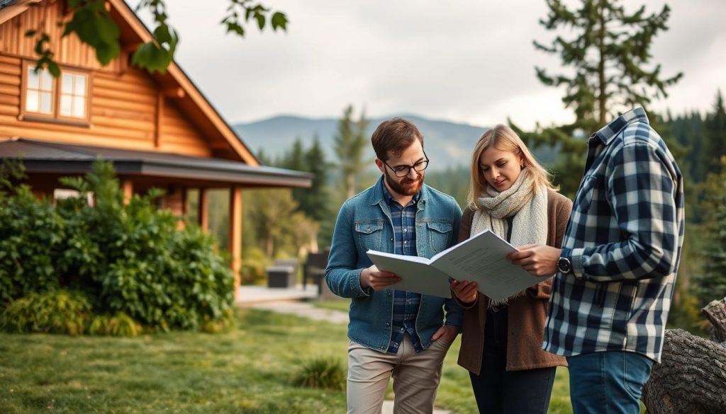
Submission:
<svg viewBox="0 0 726 414">
<path fill-rule="evenodd" d="M 367 250 L 393 253 L 393 222 L 383 197 L 382 179 L 383 175 L 378 183 L 340 207 L 325 281 L 333 293 L 351 298 L 348 338 L 364 347 L 386 352 L 391 339 L 393 289 L 364 290 L 360 286 L 362 270 L 373 264 Z M 455 244 L 460 220 L 461 209 L 452 196 L 424 185 L 416 212 L 418 255 L 432 257 Z M 454 299 L 421 295 L 416 331 L 424 349 L 431 345 L 431 336 L 444 323 L 460 328 L 462 315 Z"/>
</svg>

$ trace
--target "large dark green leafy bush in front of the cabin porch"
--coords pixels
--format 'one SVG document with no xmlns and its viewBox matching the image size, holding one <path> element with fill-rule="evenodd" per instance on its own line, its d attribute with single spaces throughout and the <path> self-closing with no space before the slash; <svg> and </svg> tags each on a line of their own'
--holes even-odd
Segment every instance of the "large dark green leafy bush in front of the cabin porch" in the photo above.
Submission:
<svg viewBox="0 0 726 414">
<path fill-rule="evenodd" d="M 211 236 L 195 225 L 179 230 L 171 212 L 155 207 L 161 191 L 124 204 L 112 165 L 101 161 L 62 183 L 80 196 L 53 206 L 26 186 L 0 191 L 0 309 L 65 287 L 83 292 L 97 314 L 128 315 L 151 329 L 225 326 L 232 271 Z"/>
</svg>

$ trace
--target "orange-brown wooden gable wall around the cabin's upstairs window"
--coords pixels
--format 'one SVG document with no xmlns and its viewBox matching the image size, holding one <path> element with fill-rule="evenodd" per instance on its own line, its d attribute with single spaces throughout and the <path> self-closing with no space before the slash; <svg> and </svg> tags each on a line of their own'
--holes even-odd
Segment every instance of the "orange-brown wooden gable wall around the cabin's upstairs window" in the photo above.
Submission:
<svg viewBox="0 0 726 414">
<path fill-rule="evenodd" d="M 148 73 L 134 67 L 121 72 L 118 61 L 101 70 L 94 53 L 75 37 L 55 41 L 52 47 L 61 70 L 91 70 L 90 125 L 21 119 L 23 60 L 37 58 L 33 41 L 23 33 L 45 16 L 46 30 L 60 36 L 60 29 L 48 22 L 50 16 L 60 18 L 62 3 L 31 7 L 0 25 L 0 139 L 25 137 L 211 157 L 211 144 L 179 111 L 175 99 L 160 94 Z"/>
</svg>

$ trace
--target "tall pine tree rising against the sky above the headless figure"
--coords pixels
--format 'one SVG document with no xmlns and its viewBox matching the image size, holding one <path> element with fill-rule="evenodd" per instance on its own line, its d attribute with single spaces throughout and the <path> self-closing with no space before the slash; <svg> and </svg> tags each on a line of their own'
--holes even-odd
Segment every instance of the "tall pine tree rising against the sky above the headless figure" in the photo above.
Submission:
<svg viewBox="0 0 726 414">
<path fill-rule="evenodd" d="M 547 0 L 550 13 L 540 20 L 547 30 L 565 28 L 574 38 L 557 36 L 551 46 L 534 41 L 537 49 L 559 54 L 573 75 L 548 75 L 537 67 L 537 77 L 550 86 L 566 86 L 563 102 L 577 115 L 588 133 L 596 131 L 622 109 L 636 104 L 648 107 L 651 99 L 668 96 L 666 87 L 682 77 L 661 79 L 661 65 L 650 63 L 650 46 L 661 30 L 668 30 L 670 8 L 645 15 L 645 6 L 628 14 L 620 0 L 582 0 L 582 7 L 568 9 L 560 0 Z"/>
</svg>

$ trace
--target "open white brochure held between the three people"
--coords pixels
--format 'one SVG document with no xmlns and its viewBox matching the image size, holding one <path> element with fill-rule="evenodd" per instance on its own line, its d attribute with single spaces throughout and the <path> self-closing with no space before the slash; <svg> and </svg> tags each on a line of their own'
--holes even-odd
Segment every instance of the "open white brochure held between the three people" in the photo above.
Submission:
<svg viewBox="0 0 726 414">
<path fill-rule="evenodd" d="M 401 277 L 393 289 L 452 297 L 449 278 L 476 281 L 478 290 L 494 300 L 502 300 L 539 283 L 544 278 L 531 275 L 507 260 L 517 249 L 492 231 L 476 234 L 431 259 L 368 250 L 370 260 L 380 270 Z"/>
</svg>

